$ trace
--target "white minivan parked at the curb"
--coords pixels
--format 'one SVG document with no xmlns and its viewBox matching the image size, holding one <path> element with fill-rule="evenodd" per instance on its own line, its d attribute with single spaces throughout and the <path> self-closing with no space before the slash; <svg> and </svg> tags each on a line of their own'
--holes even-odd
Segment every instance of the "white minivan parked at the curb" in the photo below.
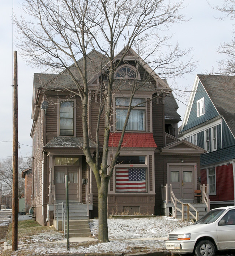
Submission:
<svg viewBox="0 0 235 256">
<path fill-rule="evenodd" d="M 195 224 L 171 232 L 166 249 L 196 256 L 214 256 L 216 251 L 235 249 L 235 206 L 210 210 Z"/>
</svg>

